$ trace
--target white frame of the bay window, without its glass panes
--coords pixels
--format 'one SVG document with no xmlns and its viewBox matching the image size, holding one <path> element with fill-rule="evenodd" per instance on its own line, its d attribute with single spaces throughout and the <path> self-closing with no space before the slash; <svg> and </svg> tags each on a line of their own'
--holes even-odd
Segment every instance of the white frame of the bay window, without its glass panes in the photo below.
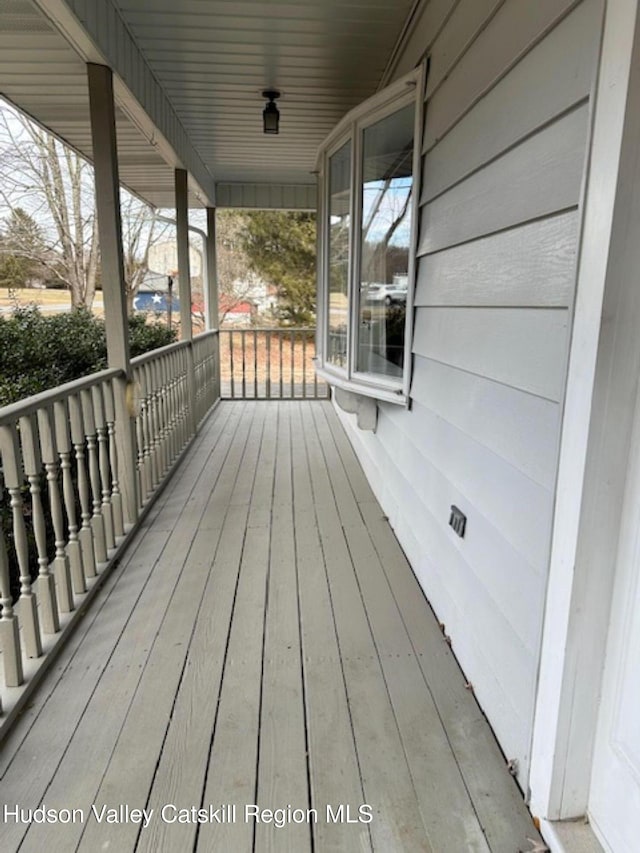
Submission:
<svg viewBox="0 0 640 853">
<path fill-rule="evenodd" d="M 351 110 L 336 126 L 320 146 L 318 152 L 319 174 L 319 247 L 318 253 L 318 332 L 317 362 L 319 376 L 329 384 L 354 393 L 374 397 L 398 405 L 408 405 L 411 383 L 411 342 L 413 331 L 413 298 L 415 290 L 416 247 L 418 235 L 418 213 L 420 206 L 420 166 L 422 161 L 422 114 L 424 100 L 424 71 L 417 68 L 396 83 L 364 101 Z M 402 378 L 383 376 L 356 370 L 358 325 L 360 318 L 360 240 L 362 224 L 362 138 L 366 128 L 413 103 L 414 147 L 413 147 L 413 202 L 411 210 L 411 234 L 409 243 L 409 268 L 405 316 L 404 361 Z M 341 368 L 327 361 L 329 331 L 329 159 L 342 146 L 351 141 L 351 196 L 350 233 L 348 264 L 348 324 L 347 365 Z"/>
</svg>

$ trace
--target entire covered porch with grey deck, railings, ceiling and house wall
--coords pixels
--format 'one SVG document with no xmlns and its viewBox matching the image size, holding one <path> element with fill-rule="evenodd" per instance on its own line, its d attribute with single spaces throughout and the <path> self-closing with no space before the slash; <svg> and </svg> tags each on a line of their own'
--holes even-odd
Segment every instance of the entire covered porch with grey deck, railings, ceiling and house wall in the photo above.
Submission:
<svg viewBox="0 0 640 853">
<path fill-rule="evenodd" d="M 108 348 L 0 410 L 0 850 L 635 849 L 637 11 L 0 3 L 0 94 L 95 167 Z M 137 358 L 121 186 L 175 209 Z M 229 207 L 317 213 L 317 329 L 219 328 Z"/>
</svg>

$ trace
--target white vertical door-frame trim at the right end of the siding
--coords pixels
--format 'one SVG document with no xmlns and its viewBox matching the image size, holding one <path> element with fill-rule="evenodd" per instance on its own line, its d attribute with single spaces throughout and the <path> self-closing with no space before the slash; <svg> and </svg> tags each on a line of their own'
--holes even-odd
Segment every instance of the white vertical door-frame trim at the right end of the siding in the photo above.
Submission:
<svg viewBox="0 0 640 853">
<path fill-rule="evenodd" d="M 607 4 L 584 200 L 530 776 L 550 820 L 588 805 L 640 370 L 637 5 Z"/>
</svg>

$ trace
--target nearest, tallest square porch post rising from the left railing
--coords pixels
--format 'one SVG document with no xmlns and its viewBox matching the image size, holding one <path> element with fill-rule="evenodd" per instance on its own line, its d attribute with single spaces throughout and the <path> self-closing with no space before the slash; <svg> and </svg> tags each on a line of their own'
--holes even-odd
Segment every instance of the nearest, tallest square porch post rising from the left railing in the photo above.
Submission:
<svg viewBox="0 0 640 853">
<path fill-rule="evenodd" d="M 115 438 L 121 469 L 118 474 L 124 519 L 133 524 L 138 517 L 136 445 L 134 421 L 126 403 L 127 385 L 131 379 L 131 360 L 120 221 L 113 75 L 107 66 L 94 63 L 88 63 L 87 74 L 107 358 L 109 367 L 123 371 L 123 376 L 114 384 Z"/>
</svg>

